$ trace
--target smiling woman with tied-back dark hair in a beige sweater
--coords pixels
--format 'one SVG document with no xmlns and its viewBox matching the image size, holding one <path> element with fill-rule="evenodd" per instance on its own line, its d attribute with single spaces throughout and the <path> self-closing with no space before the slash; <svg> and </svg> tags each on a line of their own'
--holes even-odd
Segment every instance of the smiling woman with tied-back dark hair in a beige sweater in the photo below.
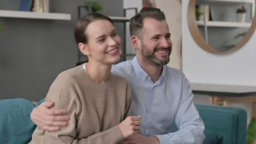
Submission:
<svg viewBox="0 0 256 144">
<path fill-rule="evenodd" d="M 34 144 L 116 144 L 137 134 L 140 117 L 130 116 L 131 92 L 125 79 L 111 73 L 121 54 L 112 20 L 99 13 L 82 17 L 75 27 L 79 50 L 89 62 L 60 73 L 46 96 L 53 108 L 67 109 L 66 127 L 33 133 Z"/>
</svg>

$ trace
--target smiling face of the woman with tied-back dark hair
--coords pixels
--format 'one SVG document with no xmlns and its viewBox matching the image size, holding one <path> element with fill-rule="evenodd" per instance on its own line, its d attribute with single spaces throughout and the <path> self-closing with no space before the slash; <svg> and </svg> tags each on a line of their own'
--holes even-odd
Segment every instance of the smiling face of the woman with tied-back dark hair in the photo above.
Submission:
<svg viewBox="0 0 256 144">
<path fill-rule="evenodd" d="M 96 20 L 85 29 L 89 61 L 105 64 L 118 62 L 121 54 L 121 38 L 108 20 Z"/>
</svg>

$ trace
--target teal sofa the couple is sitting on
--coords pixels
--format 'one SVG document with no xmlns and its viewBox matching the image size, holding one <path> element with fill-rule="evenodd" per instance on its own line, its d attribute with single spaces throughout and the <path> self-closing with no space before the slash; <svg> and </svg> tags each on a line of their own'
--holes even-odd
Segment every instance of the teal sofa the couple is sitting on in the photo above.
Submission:
<svg viewBox="0 0 256 144">
<path fill-rule="evenodd" d="M 36 125 L 30 113 L 36 105 L 23 98 L 0 100 L 0 144 L 28 144 Z M 205 124 L 203 144 L 245 144 L 246 110 L 216 105 L 196 105 Z M 173 124 L 170 132 L 177 131 Z"/>
</svg>

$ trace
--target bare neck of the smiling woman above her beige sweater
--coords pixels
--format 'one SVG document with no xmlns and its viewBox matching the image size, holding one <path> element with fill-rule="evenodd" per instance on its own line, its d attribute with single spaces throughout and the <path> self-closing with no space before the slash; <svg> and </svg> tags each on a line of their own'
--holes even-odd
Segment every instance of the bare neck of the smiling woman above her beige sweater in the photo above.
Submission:
<svg viewBox="0 0 256 144">
<path fill-rule="evenodd" d="M 85 65 L 85 69 L 89 77 L 96 83 L 102 84 L 105 83 L 111 73 L 112 64 L 103 65 L 98 62 L 87 62 Z"/>
</svg>

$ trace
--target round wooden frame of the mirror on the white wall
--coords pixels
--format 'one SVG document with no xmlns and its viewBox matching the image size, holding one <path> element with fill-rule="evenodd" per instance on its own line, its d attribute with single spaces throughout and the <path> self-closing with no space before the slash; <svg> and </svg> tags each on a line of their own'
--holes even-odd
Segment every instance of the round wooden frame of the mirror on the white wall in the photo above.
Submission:
<svg viewBox="0 0 256 144">
<path fill-rule="evenodd" d="M 256 5 L 256 3 L 255 3 Z M 212 46 L 210 46 L 203 38 L 203 36 L 201 35 L 199 28 L 197 26 L 197 21 L 196 21 L 196 14 L 195 14 L 195 6 L 196 6 L 196 0 L 189 0 L 189 4 L 188 4 L 188 9 L 187 9 L 187 24 L 188 24 L 188 29 L 190 31 L 190 34 L 192 36 L 192 38 L 194 39 L 194 41 L 197 43 L 197 45 L 207 51 L 207 52 L 211 52 L 211 53 L 215 53 L 215 54 L 226 54 L 226 53 L 230 53 L 230 52 L 234 52 L 238 49 L 240 49 L 241 47 L 243 47 L 248 41 L 249 39 L 252 37 L 255 28 L 256 28 L 256 10 L 254 12 L 254 16 L 253 16 L 253 20 L 252 20 L 252 24 L 247 32 L 247 34 L 243 37 L 243 39 L 233 48 L 227 50 L 227 51 L 220 51 L 217 49 L 212 48 Z"/>
</svg>

